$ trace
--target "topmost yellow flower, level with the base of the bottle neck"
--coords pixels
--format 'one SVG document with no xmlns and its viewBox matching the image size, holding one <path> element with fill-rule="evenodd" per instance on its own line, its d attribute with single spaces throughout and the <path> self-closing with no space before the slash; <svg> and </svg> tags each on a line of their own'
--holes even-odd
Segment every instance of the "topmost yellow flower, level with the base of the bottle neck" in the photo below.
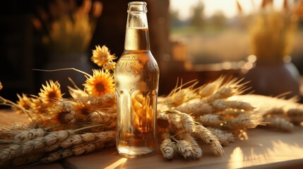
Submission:
<svg viewBox="0 0 303 169">
<path fill-rule="evenodd" d="M 91 60 L 100 67 L 102 67 L 103 65 L 110 63 L 116 58 L 117 57 L 114 56 L 114 54 L 110 54 L 107 46 L 103 45 L 102 47 L 100 47 L 98 45 L 96 46 L 96 49 L 93 50 L 93 56 L 91 57 Z"/>
</svg>

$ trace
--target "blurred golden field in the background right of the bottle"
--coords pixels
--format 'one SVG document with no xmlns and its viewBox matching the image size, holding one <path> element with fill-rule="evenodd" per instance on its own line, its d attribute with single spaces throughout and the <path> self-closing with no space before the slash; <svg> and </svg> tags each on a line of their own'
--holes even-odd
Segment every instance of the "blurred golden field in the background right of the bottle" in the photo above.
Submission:
<svg viewBox="0 0 303 169">
<path fill-rule="evenodd" d="M 248 33 L 236 28 L 224 30 L 195 30 L 182 27 L 172 30 L 171 40 L 182 41 L 188 48 L 186 56 L 193 64 L 246 61 L 251 54 Z M 303 73 L 303 30 L 297 32 L 292 51 L 292 62 Z"/>
</svg>

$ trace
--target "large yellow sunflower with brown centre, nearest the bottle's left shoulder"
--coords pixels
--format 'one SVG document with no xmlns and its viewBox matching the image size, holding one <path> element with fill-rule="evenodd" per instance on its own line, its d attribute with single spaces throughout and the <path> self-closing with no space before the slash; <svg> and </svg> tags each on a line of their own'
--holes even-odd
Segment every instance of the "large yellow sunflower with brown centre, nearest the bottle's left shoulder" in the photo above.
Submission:
<svg viewBox="0 0 303 169">
<path fill-rule="evenodd" d="M 108 70 L 93 70 L 93 76 L 90 76 L 83 84 L 85 91 L 93 96 L 102 96 L 114 92 L 114 75 Z"/>
</svg>

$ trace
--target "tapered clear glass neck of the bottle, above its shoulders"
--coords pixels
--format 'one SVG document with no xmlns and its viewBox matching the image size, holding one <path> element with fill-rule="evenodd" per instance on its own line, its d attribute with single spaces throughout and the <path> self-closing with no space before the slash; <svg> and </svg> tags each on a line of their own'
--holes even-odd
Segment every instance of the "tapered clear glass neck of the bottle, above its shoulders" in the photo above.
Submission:
<svg viewBox="0 0 303 169">
<path fill-rule="evenodd" d="M 146 4 L 130 3 L 128 8 L 124 49 L 150 50 Z"/>
</svg>

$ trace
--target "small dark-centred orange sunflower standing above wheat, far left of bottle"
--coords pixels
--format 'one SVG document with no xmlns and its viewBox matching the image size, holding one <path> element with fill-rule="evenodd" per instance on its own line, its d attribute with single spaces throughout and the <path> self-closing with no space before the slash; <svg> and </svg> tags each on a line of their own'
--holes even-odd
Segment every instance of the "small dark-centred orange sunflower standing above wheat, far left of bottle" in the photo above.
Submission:
<svg viewBox="0 0 303 169">
<path fill-rule="evenodd" d="M 54 104 L 56 101 L 62 98 L 59 82 L 53 82 L 49 80 L 47 85 L 42 84 L 43 89 L 40 89 L 39 96 L 49 104 Z"/>
</svg>

